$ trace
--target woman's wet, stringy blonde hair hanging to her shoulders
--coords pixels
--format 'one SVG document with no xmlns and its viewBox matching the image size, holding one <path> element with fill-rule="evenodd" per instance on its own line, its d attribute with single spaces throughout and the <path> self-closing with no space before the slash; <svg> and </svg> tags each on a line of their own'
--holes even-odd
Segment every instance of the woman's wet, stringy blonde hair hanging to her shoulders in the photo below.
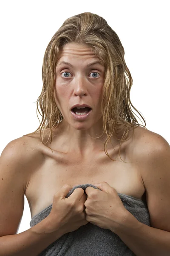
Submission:
<svg viewBox="0 0 170 256">
<path fill-rule="evenodd" d="M 49 139 L 51 143 L 52 129 L 56 128 L 59 122 L 63 119 L 55 102 L 54 87 L 55 70 L 59 59 L 59 53 L 62 50 L 62 47 L 67 43 L 77 43 L 91 47 L 94 54 L 105 66 L 105 80 L 101 103 L 103 118 L 102 134 L 105 132 L 107 135 L 107 139 L 104 143 L 104 151 L 105 154 L 111 158 L 108 155 L 107 143 L 108 141 L 111 141 L 113 134 L 116 135 L 116 128 L 119 127 L 119 125 L 126 127 L 126 132 L 124 131 L 122 139 L 120 140 L 121 146 L 121 143 L 127 138 L 130 129 L 133 129 L 134 134 L 134 128 L 137 128 L 136 125 L 139 125 L 139 123 L 130 107 L 131 105 L 134 108 L 130 101 L 130 89 L 133 80 L 125 63 L 125 51 L 122 43 L 116 32 L 111 29 L 106 20 L 91 12 L 84 12 L 68 18 L 51 38 L 43 58 L 43 86 L 42 92 L 37 99 L 37 110 L 40 113 L 38 108 L 39 103 L 42 112 L 42 114 L 40 113 L 42 120 L 36 131 L 23 136 L 35 134 L 40 131 L 42 143 L 44 145 L 47 144 Z M 134 109 L 136 110 L 136 108 Z M 139 113 L 139 111 L 137 112 Z M 142 117 L 140 113 L 139 115 Z M 142 119 L 144 120 L 143 117 Z M 145 128 L 145 120 L 144 124 L 145 125 L 142 126 Z M 50 135 L 47 142 L 44 143 L 43 139 L 46 128 L 50 128 Z M 42 130 L 43 133 L 41 136 Z"/>
</svg>

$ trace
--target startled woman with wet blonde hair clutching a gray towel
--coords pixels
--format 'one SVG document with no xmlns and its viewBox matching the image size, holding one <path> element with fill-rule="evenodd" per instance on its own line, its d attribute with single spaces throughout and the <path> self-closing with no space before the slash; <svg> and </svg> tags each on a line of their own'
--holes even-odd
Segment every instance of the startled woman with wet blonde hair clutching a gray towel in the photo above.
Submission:
<svg viewBox="0 0 170 256">
<path fill-rule="evenodd" d="M 124 55 L 90 12 L 52 37 L 40 126 L 1 156 L 0 255 L 169 255 L 170 145 L 133 115 Z M 31 228 L 15 235 L 24 194 Z"/>
</svg>

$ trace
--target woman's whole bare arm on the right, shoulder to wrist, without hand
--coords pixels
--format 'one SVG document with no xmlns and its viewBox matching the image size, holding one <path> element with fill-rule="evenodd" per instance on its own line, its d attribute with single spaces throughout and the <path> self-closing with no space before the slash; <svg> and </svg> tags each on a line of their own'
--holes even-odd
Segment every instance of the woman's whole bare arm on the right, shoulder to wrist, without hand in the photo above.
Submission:
<svg viewBox="0 0 170 256">
<path fill-rule="evenodd" d="M 136 256 L 170 256 L 170 145 L 159 134 L 144 134 L 135 148 L 146 190 L 151 227 L 130 213 L 116 234 Z"/>
</svg>

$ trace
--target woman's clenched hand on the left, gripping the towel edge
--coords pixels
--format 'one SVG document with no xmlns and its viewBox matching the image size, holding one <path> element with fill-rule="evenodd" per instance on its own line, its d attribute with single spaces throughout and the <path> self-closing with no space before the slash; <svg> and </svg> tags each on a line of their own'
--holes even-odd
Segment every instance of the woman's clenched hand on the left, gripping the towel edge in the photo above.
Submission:
<svg viewBox="0 0 170 256">
<path fill-rule="evenodd" d="M 52 209 L 47 217 L 51 223 L 51 232 L 59 229 L 65 234 L 88 223 L 85 219 L 84 205 L 87 195 L 82 188 L 77 188 L 68 198 L 65 198 L 72 188 L 73 186 L 65 184 L 54 194 Z"/>
</svg>

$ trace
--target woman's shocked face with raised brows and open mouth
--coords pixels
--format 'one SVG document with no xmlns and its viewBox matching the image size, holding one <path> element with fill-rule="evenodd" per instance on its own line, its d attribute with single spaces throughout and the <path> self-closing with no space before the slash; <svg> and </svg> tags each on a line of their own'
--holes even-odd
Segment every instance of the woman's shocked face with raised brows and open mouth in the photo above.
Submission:
<svg viewBox="0 0 170 256">
<path fill-rule="evenodd" d="M 96 61 L 97 64 L 92 64 Z M 105 67 L 91 47 L 68 43 L 62 48 L 56 67 L 54 96 L 63 118 L 75 129 L 87 130 L 101 119 L 104 76 Z M 74 108 L 77 104 L 79 108 Z"/>
</svg>

